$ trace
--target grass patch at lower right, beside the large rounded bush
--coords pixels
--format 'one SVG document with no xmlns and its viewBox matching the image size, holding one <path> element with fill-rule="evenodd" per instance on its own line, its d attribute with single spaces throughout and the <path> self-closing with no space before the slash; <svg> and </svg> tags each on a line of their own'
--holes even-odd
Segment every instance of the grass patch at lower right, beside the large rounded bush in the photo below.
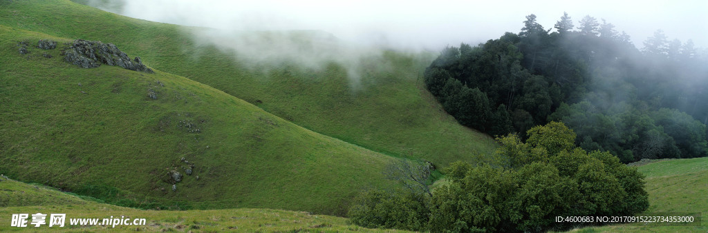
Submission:
<svg viewBox="0 0 708 233">
<path fill-rule="evenodd" d="M 638 167 L 646 174 L 647 213 L 701 213 L 700 227 L 586 227 L 577 232 L 708 232 L 708 157 L 654 162 Z"/>
</svg>

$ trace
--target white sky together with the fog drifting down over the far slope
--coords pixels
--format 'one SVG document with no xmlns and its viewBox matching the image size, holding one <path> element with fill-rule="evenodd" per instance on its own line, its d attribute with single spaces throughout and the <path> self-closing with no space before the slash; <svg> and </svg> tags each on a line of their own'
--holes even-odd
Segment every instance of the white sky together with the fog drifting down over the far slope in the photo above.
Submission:
<svg viewBox="0 0 708 233">
<path fill-rule="evenodd" d="M 81 1 L 81 0 L 76 0 Z M 630 35 L 638 48 L 657 29 L 670 39 L 708 45 L 708 1 L 227 1 L 83 0 L 84 4 L 190 30 L 200 45 L 233 52 L 244 64 L 294 62 L 346 67 L 353 83 L 362 57 L 382 49 L 439 52 L 460 42 L 478 44 L 504 32 L 517 33 L 534 13 L 545 30 L 564 12 L 573 22 L 590 15 Z"/>
</svg>

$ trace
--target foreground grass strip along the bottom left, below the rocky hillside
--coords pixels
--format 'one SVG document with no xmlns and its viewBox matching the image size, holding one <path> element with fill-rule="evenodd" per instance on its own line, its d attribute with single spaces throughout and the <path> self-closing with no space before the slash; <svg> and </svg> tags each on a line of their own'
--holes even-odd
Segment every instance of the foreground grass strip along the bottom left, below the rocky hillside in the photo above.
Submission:
<svg viewBox="0 0 708 233">
<path fill-rule="evenodd" d="M 235 210 L 136 210 L 115 205 L 86 201 L 79 196 L 62 193 L 45 186 L 24 184 L 0 178 L 0 232 L 17 230 L 47 231 L 64 229 L 68 231 L 198 231 L 224 232 L 241 230 L 246 232 L 290 232 L 297 230 L 317 232 L 376 231 L 355 225 L 347 225 L 343 217 L 310 215 L 288 210 L 235 209 Z M 70 226 L 64 228 L 46 225 L 40 228 L 10 227 L 11 215 L 17 213 L 65 213 L 68 218 L 109 218 L 126 215 L 130 218 L 144 218 L 144 226 Z M 393 232 L 393 231 L 388 231 Z"/>
</svg>

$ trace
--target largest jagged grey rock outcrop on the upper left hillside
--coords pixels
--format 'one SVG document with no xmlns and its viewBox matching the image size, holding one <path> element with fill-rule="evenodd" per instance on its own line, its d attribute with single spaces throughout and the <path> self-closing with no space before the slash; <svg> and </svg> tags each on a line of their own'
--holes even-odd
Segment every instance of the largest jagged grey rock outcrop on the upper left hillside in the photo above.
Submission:
<svg viewBox="0 0 708 233">
<path fill-rule="evenodd" d="M 121 52 L 114 44 L 100 41 L 74 40 L 72 46 L 64 50 L 64 59 L 81 68 L 96 68 L 101 64 L 120 66 L 131 71 L 153 73 L 152 69 L 142 64 L 138 56 L 130 59 L 125 52 Z"/>
</svg>

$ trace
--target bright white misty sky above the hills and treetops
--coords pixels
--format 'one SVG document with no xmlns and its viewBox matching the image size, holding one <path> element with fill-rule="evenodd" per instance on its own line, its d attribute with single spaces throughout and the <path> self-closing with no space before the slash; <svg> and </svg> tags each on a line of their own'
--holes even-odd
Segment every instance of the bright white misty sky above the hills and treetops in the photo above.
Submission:
<svg viewBox="0 0 708 233">
<path fill-rule="evenodd" d="M 116 10 L 113 10 L 116 11 Z M 344 40 L 440 49 L 519 32 L 535 13 L 552 28 L 566 11 L 590 14 L 626 31 L 638 48 L 659 28 L 670 40 L 708 47 L 708 1 L 229 1 L 127 0 L 122 13 L 164 23 L 234 30 L 324 30 Z M 600 21 L 601 22 L 601 21 Z"/>
</svg>

